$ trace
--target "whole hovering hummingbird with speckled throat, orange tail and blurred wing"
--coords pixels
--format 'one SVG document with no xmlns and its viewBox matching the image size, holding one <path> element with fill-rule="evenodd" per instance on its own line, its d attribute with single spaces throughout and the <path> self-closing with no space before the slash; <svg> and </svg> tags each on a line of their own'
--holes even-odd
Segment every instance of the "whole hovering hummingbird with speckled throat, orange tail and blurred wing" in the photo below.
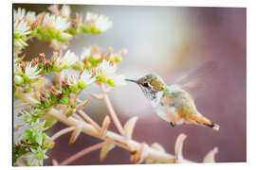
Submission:
<svg viewBox="0 0 256 170">
<path fill-rule="evenodd" d="M 172 85 L 167 85 L 160 76 L 155 74 L 125 80 L 136 83 L 146 98 L 151 101 L 160 118 L 169 122 L 172 127 L 185 123 L 219 130 L 217 124 L 212 123 L 197 110 L 192 96 L 192 90 L 204 87 L 203 77 L 209 77 L 209 73 L 212 73 L 215 68 L 216 63 L 209 61 L 192 70 L 187 76 L 181 77 Z"/>
</svg>

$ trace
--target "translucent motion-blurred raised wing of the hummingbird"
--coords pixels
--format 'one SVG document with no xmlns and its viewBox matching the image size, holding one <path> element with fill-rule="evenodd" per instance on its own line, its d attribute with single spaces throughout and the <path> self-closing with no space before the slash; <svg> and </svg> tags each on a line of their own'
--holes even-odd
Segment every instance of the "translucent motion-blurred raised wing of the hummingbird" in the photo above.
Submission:
<svg viewBox="0 0 256 170">
<path fill-rule="evenodd" d="M 192 94 L 192 97 L 195 98 L 198 93 L 206 88 L 207 81 L 212 78 L 217 66 L 216 61 L 206 61 L 199 67 L 192 69 L 187 75 L 181 76 L 174 84 L 178 84 L 179 87 Z"/>
</svg>

